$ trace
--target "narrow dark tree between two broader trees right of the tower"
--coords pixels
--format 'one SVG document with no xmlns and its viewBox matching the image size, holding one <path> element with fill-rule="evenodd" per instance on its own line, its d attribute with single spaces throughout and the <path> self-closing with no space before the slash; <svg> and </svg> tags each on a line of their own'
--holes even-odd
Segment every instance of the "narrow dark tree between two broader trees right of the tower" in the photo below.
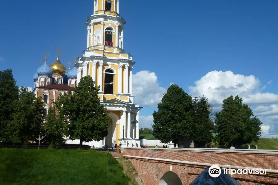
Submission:
<svg viewBox="0 0 278 185">
<path fill-rule="evenodd" d="M 209 119 L 211 106 L 208 99 L 195 97 L 192 105 L 192 119 L 194 125 L 193 142 L 195 147 L 205 146 L 212 141 L 213 122 Z"/>
</svg>

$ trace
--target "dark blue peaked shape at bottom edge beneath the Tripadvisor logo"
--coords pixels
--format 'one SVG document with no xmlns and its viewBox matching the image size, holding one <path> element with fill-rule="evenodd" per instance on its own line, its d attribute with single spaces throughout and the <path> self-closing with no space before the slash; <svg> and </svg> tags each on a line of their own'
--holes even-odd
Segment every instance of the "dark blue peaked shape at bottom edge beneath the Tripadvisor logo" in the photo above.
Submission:
<svg viewBox="0 0 278 185">
<path fill-rule="evenodd" d="M 190 185 L 241 185 L 233 177 L 228 174 L 224 174 L 221 169 L 221 175 L 219 177 L 211 177 L 208 174 L 208 169 L 205 169 Z"/>
</svg>

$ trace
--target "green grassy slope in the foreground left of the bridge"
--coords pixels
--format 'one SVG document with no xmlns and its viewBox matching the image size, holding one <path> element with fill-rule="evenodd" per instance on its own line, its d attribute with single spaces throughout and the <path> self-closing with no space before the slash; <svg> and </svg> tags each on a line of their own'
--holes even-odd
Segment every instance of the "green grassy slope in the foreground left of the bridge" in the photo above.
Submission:
<svg viewBox="0 0 278 185">
<path fill-rule="evenodd" d="M 109 152 L 1 149 L 1 185 L 128 185 Z"/>
</svg>

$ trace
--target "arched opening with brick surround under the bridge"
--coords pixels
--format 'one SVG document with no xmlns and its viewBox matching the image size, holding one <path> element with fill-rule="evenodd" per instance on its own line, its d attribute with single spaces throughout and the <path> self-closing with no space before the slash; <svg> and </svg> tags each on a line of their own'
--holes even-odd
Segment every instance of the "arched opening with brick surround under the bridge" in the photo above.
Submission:
<svg viewBox="0 0 278 185">
<path fill-rule="evenodd" d="M 158 185 L 183 185 L 179 170 L 169 166 L 164 168 Z"/>
</svg>

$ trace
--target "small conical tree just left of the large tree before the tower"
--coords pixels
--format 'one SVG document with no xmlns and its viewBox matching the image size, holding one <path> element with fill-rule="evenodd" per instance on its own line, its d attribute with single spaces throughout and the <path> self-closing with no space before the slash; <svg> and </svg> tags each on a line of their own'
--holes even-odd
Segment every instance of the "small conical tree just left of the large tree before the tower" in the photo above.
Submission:
<svg viewBox="0 0 278 185">
<path fill-rule="evenodd" d="M 68 134 L 68 125 L 65 121 L 65 116 L 58 114 L 55 102 L 53 106 L 48 108 L 48 115 L 44 123 L 43 130 L 45 132 L 45 141 L 51 145 L 62 143 L 64 141 L 63 136 Z"/>
</svg>

